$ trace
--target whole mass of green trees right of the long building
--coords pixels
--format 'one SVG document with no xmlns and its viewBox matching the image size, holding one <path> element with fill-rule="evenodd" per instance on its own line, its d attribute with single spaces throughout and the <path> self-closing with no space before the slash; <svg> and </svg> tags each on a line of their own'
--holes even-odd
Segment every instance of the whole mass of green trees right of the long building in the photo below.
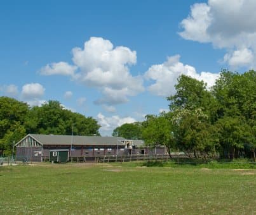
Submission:
<svg viewBox="0 0 256 215">
<path fill-rule="evenodd" d="M 165 145 L 169 154 L 194 157 L 255 157 L 256 71 L 222 70 L 215 85 L 181 75 L 176 93 L 167 97 L 168 113 L 147 115 L 145 121 L 124 124 L 112 135 L 142 138 L 151 147 Z M 170 154 L 171 156 L 171 154 Z"/>
</svg>

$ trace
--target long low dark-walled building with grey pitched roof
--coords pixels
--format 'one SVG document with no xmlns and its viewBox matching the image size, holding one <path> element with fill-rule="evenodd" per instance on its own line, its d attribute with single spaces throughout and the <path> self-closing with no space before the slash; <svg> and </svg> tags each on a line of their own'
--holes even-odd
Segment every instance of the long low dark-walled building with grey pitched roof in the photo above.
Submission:
<svg viewBox="0 0 256 215">
<path fill-rule="evenodd" d="M 143 140 L 123 137 L 29 134 L 16 145 L 17 160 L 67 162 L 72 157 L 165 154 L 164 147 L 145 147 Z"/>
</svg>

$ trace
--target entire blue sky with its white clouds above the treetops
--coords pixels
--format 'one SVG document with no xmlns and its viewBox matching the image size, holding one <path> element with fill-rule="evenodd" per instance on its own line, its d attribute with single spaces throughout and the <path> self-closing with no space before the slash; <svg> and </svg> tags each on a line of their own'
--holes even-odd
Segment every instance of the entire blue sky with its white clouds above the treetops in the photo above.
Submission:
<svg viewBox="0 0 256 215">
<path fill-rule="evenodd" d="M 254 68 L 255 6 L 251 0 L 1 1 L 0 95 L 31 106 L 60 101 L 111 135 L 122 123 L 168 109 L 166 96 L 181 74 L 210 87 L 222 68 Z"/>
</svg>

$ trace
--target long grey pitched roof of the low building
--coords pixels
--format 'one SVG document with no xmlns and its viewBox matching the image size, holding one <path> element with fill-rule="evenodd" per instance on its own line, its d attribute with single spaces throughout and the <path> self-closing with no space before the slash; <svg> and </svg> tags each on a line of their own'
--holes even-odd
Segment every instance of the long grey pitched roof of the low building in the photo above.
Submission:
<svg viewBox="0 0 256 215">
<path fill-rule="evenodd" d="M 39 135 L 30 134 L 43 145 L 124 145 L 118 140 L 123 137 L 71 136 L 71 135 Z M 71 140 L 73 138 L 73 140 Z"/>
</svg>

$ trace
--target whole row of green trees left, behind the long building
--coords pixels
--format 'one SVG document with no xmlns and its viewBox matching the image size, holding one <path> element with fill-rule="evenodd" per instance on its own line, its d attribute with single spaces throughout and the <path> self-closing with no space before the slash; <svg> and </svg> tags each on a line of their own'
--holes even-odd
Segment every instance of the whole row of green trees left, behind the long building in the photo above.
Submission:
<svg viewBox="0 0 256 215">
<path fill-rule="evenodd" d="M 10 155 L 13 142 L 27 133 L 71 135 L 100 135 L 100 125 L 92 117 L 73 113 L 58 101 L 30 107 L 10 97 L 0 97 L 0 156 Z"/>
</svg>

